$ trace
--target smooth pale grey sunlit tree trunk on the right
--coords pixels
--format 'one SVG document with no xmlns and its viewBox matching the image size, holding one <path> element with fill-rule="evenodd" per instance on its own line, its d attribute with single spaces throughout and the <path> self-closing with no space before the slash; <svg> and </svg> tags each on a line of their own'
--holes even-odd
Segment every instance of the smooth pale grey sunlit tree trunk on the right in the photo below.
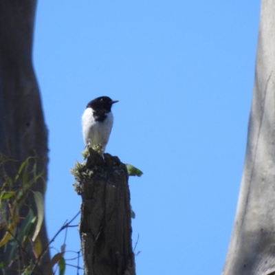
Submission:
<svg viewBox="0 0 275 275">
<path fill-rule="evenodd" d="M 222 275 L 275 272 L 275 1 L 262 0 L 248 147 Z"/>
</svg>

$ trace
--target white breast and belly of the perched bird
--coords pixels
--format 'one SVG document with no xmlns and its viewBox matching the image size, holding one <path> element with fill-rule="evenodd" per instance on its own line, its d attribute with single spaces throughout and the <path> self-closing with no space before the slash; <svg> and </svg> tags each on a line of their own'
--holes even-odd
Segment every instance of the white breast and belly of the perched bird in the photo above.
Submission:
<svg viewBox="0 0 275 275">
<path fill-rule="evenodd" d="M 107 118 L 103 122 L 96 121 L 93 114 L 91 108 L 85 109 L 83 113 L 83 139 L 86 145 L 100 144 L 104 151 L 113 126 L 113 113 L 107 113 Z"/>
</svg>

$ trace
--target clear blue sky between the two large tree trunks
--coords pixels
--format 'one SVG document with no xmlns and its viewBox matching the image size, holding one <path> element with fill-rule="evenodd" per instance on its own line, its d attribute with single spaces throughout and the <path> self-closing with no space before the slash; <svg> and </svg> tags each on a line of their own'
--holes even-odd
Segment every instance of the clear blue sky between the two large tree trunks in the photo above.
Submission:
<svg viewBox="0 0 275 275">
<path fill-rule="evenodd" d="M 110 96 L 120 102 L 107 153 L 144 172 L 129 181 L 137 275 L 221 273 L 245 157 L 259 13 L 260 1 L 248 0 L 39 1 L 34 67 L 49 129 L 50 237 L 80 209 L 69 170 L 84 147 L 81 115 L 89 100 Z M 67 250 L 79 249 L 71 228 Z"/>
</svg>

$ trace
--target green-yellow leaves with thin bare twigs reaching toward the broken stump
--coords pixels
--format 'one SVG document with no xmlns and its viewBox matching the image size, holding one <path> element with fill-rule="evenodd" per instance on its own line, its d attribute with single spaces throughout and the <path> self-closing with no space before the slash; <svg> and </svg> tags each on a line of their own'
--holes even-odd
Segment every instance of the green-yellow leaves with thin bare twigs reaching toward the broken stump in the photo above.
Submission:
<svg viewBox="0 0 275 275">
<path fill-rule="evenodd" d="M 9 250 L 8 261 L 0 260 L 0 269 L 5 269 L 13 261 L 21 261 L 27 256 L 30 259 L 29 264 L 22 264 L 21 270 L 18 270 L 19 274 L 33 274 L 34 270 L 36 270 L 36 274 L 39 274 L 37 273 L 39 271 L 40 274 L 44 274 L 39 268 L 43 255 L 49 249 L 50 243 L 62 230 L 67 230 L 69 226 L 73 226 L 69 224 L 75 217 L 66 222 L 46 247 L 43 247 L 39 238 L 44 219 L 43 194 L 33 191 L 31 188 L 39 179 L 42 179 L 45 183 L 44 173 L 43 171 L 38 173 L 36 158 L 28 157 L 19 166 L 15 177 L 10 177 L 8 173 L 5 173 L 5 165 L 3 165 L 9 161 L 14 162 L 14 160 L 0 154 L 0 180 L 2 179 L 0 186 L 0 230 L 4 232 L 2 239 L 0 239 L 0 248 L 3 247 L 3 250 L 6 250 L 8 245 L 12 247 Z M 34 203 L 28 203 L 30 199 Z M 34 205 L 34 207 L 31 208 L 31 205 Z M 24 217 L 21 217 L 21 210 L 25 212 Z M 65 245 L 63 245 L 63 248 L 65 248 Z M 65 249 L 63 248 L 61 248 L 61 252 L 52 257 L 46 267 L 45 274 L 53 274 L 52 268 L 54 265 L 59 268 L 59 274 L 65 274 L 66 261 L 64 258 Z"/>
</svg>

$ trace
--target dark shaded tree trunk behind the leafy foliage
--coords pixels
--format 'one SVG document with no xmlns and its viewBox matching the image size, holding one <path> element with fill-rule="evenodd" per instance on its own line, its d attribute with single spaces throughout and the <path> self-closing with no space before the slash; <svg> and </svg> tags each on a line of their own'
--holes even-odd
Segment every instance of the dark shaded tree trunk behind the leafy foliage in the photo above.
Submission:
<svg viewBox="0 0 275 275">
<path fill-rule="evenodd" d="M 43 171 L 44 179 L 47 177 L 47 128 L 32 66 L 35 9 L 35 0 L 0 0 L 0 153 L 13 160 L 2 164 L 12 178 L 21 162 L 30 156 L 36 157 L 37 171 Z M 43 194 L 44 185 L 43 179 L 39 179 L 32 190 Z M 29 208 L 36 208 L 31 192 L 25 203 Z M 20 217 L 25 217 L 25 214 L 26 209 L 22 209 Z M 1 230 L 0 237 L 3 233 Z M 45 223 L 39 239 L 42 247 L 45 247 Z M 3 248 L 0 248 L 1 261 L 8 259 L 10 249 L 11 246 L 8 246 L 8 250 L 3 252 Z M 32 250 L 28 252 L 33 256 Z M 47 252 L 43 262 L 49 260 L 50 254 Z M 16 271 L 20 266 L 17 262 L 0 270 L 0 274 L 19 274 Z M 27 257 L 25 264 L 29 263 Z"/>
</svg>

